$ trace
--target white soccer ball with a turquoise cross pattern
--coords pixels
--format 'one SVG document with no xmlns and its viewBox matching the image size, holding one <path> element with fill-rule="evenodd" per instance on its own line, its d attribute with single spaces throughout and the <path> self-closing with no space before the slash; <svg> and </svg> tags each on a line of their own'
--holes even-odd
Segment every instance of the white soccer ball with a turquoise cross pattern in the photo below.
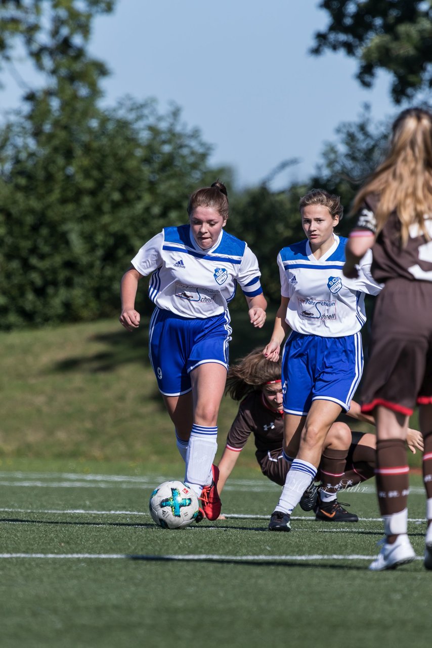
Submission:
<svg viewBox="0 0 432 648">
<path fill-rule="evenodd" d="M 183 481 L 164 481 L 150 495 L 149 508 L 158 526 L 183 529 L 198 516 L 198 497 Z"/>
</svg>

